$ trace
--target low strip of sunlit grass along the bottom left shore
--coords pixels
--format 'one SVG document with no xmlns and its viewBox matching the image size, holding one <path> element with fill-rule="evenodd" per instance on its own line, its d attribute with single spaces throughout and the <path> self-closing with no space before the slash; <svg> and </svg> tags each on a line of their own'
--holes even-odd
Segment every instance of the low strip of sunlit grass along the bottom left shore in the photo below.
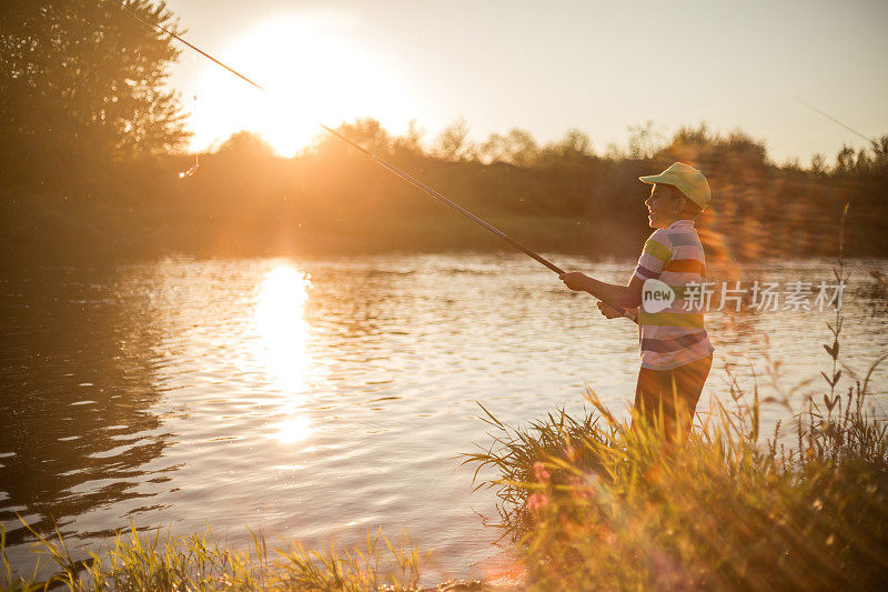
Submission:
<svg viewBox="0 0 888 592">
<path fill-rule="evenodd" d="M 60 533 L 53 539 L 31 531 L 38 552 L 48 555 L 58 572 L 39 580 L 13 576 L 2 535 L 3 590 L 36 591 L 64 588 L 71 591 L 119 590 L 335 590 L 391 592 L 417 590 L 422 558 L 410 535 L 402 532 L 391 542 L 377 532 L 367 534 L 366 546 L 307 551 L 300 543 L 283 541 L 270 550 L 265 538 L 252 534 L 253 544 L 238 551 L 224 541 L 205 535 L 163 536 L 159 529 L 139 533 L 131 524 L 128 534 L 119 533 L 103 552 L 93 551 L 88 560 L 74 561 Z"/>
</svg>

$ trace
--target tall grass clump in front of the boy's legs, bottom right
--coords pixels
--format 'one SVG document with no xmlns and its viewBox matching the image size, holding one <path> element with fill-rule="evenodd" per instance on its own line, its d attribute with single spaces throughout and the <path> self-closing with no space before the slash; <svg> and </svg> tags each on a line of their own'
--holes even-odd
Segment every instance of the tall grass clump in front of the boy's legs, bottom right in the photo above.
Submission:
<svg viewBox="0 0 888 592">
<path fill-rule="evenodd" d="M 791 450 L 716 403 L 668 454 L 657 427 L 630 432 L 591 394 L 581 420 L 490 417 L 495 444 L 467 462 L 498 470 L 480 486 L 534 590 L 871 590 L 888 581 L 888 434 L 865 397 L 813 403 Z"/>
</svg>

